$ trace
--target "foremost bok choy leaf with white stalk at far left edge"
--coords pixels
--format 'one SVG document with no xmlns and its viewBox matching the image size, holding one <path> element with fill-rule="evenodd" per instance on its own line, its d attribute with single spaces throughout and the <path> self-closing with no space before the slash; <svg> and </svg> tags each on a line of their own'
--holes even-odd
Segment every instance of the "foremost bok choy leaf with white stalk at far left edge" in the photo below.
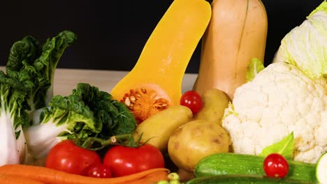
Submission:
<svg viewBox="0 0 327 184">
<path fill-rule="evenodd" d="M 27 148 L 22 127 L 28 123 L 27 89 L 0 71 L 0 165 L 26 161 Z"/>
</svg>

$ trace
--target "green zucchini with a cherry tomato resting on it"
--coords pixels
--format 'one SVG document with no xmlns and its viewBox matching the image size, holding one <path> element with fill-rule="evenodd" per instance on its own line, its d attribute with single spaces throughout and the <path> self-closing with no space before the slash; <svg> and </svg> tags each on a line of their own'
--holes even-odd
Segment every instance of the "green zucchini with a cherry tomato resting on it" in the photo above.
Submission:
<svg viewBox="0 0 327 184">
<path fill-rule="evenodd" d="M 259 175 L 265 176 L 263 160 L 257 155 L 242 155 L 235 153 L 216 153 L 209 155 L 196 164 L 194 176 L 217 176 L 224 174 Z M 284 178 L 291 178 L 310 183 L 317 183 L 316 164 L 295 162 L 288 160 L 289 174 Z"/>
</svg>

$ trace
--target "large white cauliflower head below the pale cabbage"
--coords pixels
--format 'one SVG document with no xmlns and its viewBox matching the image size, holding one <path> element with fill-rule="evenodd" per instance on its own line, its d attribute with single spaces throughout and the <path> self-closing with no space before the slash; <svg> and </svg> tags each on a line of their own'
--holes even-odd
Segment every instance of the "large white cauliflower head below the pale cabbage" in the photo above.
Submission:
<svg viewBox="0 0 327 184">
<path fill-rule="evenodd" d="M 294 160 L 317 162 L 327 149 L 326 79 L 272 63 L 236 89 L 222 125 L 235 153 L 259 155 L 293 132 Z"/>
</svg>

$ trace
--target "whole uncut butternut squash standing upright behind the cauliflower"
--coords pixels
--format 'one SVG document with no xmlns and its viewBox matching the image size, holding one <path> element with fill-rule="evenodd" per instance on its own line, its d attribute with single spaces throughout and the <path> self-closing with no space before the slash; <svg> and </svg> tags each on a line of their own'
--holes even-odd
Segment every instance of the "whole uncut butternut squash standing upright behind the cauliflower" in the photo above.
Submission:
<svg viewBox="0 0 327 184">
<path fill-rule="evenodd" d="M 231 100 L 252 58 L 264 61 L 268 19 L 260 0 L 214 0 L 194 90 L 220 89 Z"/>
</svg>

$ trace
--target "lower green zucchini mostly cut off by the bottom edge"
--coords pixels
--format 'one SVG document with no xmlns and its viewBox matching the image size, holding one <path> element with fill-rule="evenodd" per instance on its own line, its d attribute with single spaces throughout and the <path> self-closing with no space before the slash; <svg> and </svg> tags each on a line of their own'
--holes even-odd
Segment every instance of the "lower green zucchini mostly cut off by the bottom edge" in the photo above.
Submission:
<svg viewBox="0 0 327 184">
<path fill-rule="evenodd" d="M 265 176 L 258 175 L 219 175 L 219 176 L 203 176 L 200 178 L 194 178 L 188 181 L 186 184 L 216 184 L 216 183 L 258 183 L 258 184 L 268 184 L 268 183 L 279 183 L 279 184 L 289 184 L 289 183 L 298 183 L 298 184 L 309 184 L 310 182 L 298 181 L 286 178 L 268 178 Z"/>
</svg>

